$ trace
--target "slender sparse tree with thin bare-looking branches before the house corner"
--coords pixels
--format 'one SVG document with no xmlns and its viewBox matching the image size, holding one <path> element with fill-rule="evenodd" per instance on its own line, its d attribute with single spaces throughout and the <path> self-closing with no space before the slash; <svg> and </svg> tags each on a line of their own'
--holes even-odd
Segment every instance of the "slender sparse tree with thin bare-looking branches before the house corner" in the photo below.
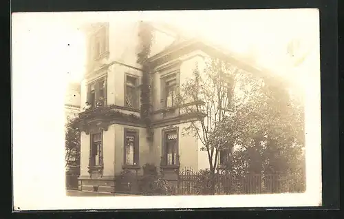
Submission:
<svg viewBox="0 0 344 219">
<path fill-rule="evenodd" d="M 202 142 L 202 150 L 208 155 L 211 178 L 215 177 L 220 150 L 233 147 L 234 136 L 231 136 L 231 132 L 222 132 L 222 123 L 232 113 L 233 100 L 239 100 L 233 95 L 235 83 L 243 79 L 246 82 L 251 80 L 250 76 L 233 65 L 219 59 L 209 59 L 203 72 L 196 66 L 193 77 L 180 87 L 178 104 L 182 106 L 181 111 L 196 117 L 183 129 L 183 134 L 195 136 Z M 186 105 L 188 103 L 194 104 Z M 211 190 L 214 191 L 215 180 L 211 181 Z"/>
</svg>

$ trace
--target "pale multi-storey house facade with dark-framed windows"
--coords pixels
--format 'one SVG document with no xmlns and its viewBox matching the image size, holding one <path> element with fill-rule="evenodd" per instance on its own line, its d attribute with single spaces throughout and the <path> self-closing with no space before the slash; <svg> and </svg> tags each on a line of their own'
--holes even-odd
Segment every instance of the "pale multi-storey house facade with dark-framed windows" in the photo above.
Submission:
<svg viewBox="0 0 344 219">
<path fill-rule="evenodd" d="M 80 103 L 85 107 L 80 113 L 85 117 L 80 126 L 80 190 L 114 192 L 121 171 L 141 175 L 146 163 L 158 167 L 171 181 L 184 167 L 208 167 L 200 140 L 182 133 L 195 115 L 185 114 L 174 98 L 195 67 L 202 68 L 206 56 L 227 56 L 201 41 L 184 39 L 177 31 L 153 24 L 154 41 L 147 59 L 154 66 L 150 72 L 153 135 L 149 136 L 140 120 L 144 73 L 137 63 L 142 48 L 139 27 L 139 22 L 109 22 L 85 28 L 87 71 L 80 92 Z M 257 71 L 230 59 L 238 67 Z M 111 110 L 111 116 L 87 116 L 105 108 Z"/>
</svg>

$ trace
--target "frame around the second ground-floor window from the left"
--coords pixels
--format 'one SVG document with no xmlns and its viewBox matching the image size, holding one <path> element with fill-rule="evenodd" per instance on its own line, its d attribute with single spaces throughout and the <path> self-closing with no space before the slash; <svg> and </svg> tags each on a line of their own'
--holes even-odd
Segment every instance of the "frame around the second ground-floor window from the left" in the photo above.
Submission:
<svg viewBox="0 0 344 219">
<path fill-rule="evenodd" d="M 133 165 L 127 164 L 127 136 L 132 134 L 134 136 L 134 148 L 133 148 Z M 124 128 L 123 135 L 123 169 L 127 168 L 140 168 L 140 132 L 138 129 Z"/>
</svg>

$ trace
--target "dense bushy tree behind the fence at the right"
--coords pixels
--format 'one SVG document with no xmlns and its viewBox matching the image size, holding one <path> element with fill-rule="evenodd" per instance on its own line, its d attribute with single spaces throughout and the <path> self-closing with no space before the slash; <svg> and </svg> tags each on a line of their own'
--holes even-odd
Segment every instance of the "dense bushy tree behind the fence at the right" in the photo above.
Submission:
<svg viewBox="0 0 344 219">
<path fill-rule="evenodd" d="M 244 107 L 222 123 L 239 146 L 233 154 L 231 172 L 241 174 L 283 174 L 292 176 L 292 187 L 304 187 L 303 105 L 292 99 L 286 86 L 266 79 Z M 272 86 L 274 85 L 274 86 Z M 244 160 L 243 162 L 237 162 Z M 243 170 L 243 167 L 246 167 Z M 295 185 L 297 184 L 297 185 Z"/>
</svg>

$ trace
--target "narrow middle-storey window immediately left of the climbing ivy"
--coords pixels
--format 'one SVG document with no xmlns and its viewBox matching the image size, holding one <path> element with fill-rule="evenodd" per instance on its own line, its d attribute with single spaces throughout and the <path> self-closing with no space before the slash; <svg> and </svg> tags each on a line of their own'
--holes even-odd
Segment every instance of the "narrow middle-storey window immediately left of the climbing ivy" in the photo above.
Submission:
<svg viewBox="0 0 344 219">
<path fill-rule="evenodd" d="M 138 109 L 138 79 L 126 75 L 125 79 L 125 106 Z"/>
</svg>

